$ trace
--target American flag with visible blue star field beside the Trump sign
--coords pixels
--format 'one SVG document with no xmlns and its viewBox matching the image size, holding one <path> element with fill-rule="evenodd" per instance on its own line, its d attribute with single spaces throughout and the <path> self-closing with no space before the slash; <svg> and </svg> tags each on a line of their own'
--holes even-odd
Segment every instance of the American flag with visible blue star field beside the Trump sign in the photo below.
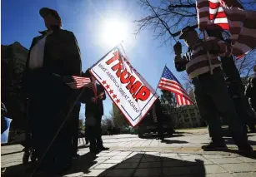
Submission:
<svg viewBox="0 0 256 177">
<path fill-rule="evenodd" d="M 163 69 L 163 75 L 159 81 L 158 88 L 173 92 L 178 106 L 193 105 L 193 101 L 189 98 L 187 91 L 183 89 L 183 86 L 167 66 Z"/>
</svg>

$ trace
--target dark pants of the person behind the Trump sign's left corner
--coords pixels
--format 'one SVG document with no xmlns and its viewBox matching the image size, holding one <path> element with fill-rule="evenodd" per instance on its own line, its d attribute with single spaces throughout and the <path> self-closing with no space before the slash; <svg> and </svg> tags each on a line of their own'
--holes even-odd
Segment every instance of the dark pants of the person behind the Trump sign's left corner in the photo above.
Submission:
<svg viewBox="0 0 256 177">
<path fill-rule="evenodd" d="M 96 115 L 96 124 L 94 126 L 87 126 L 88 139 L 90 141 L 90 150 L 97 150 L 103 147 L 102 129 L 101 129 L 101 115 Z"/>
</svg>

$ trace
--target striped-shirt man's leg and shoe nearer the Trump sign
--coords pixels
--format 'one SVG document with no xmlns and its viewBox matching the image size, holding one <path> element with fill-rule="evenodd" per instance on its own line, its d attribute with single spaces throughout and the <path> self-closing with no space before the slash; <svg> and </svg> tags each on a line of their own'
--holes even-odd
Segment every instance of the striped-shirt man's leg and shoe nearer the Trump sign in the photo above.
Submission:
<svg viewBox="0 0 256 177">
<path fill-rule="evenodd" d="M 223 142 L 223 131 L 221 129 L 220 120 L 216 106 L 213 100 L 207 95 L 203 88 L 203 82 L 193 80 L 194 95 L 198 106 L 200 116 L 207 122 L 209 136 L 212 139 L 208 145 L 203 145 L 203 150 L 221 150 L 225 149 L 226 145 Z"/>
</svg>

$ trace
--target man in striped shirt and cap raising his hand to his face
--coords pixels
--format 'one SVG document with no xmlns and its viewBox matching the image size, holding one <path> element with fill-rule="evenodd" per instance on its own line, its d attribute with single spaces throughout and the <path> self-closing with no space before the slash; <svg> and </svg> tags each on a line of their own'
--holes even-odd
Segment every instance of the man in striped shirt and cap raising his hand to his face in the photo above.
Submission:
<svg viewBox="0 0 256 177">
<path fill-rule="evenodd" d="M 227 148 L 218 117 L 220 112 L 223 118 L 228 120 L 228 127 L 235 144 L 238 145 L 238 150 L 250 154 L 253 149 L 248 144 L 243 125 L 238 120 L 233 101 L 228 95 L 223 71 L 220 68 L 221 63 L 218 61 L 218 56 L 230 56 L 232 48 L 216 37 L 208 37 L 203 42 L 198 38 L 198 33 L 193 27 L 189 26 L 183 28 L 179 38 L 188 46 L 188 52 L 182 57 L 181 44 L 178 42 L 174 45 L 175 67 L 177 71 L 186 70 L 192 80 L 198 110 L 202 118 L 207 121 L 209 135 L 212 138 L 208 145 L 203 145 L 203 150 Z"/>
</svg>

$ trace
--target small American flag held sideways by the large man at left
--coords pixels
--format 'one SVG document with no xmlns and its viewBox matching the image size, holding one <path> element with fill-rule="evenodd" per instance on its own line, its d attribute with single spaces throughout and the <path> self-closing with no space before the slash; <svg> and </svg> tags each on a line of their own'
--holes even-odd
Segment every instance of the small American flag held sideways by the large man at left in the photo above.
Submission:
<svg viewBox="0 0 256 177">
<path fill-rule="evenodd" d="M 82 76 L 63 76 L 63 81 L 72 89 L 79 89 L 83 86 L 91 86 L 92 83 L 89 77 Z"/>
</svg>

